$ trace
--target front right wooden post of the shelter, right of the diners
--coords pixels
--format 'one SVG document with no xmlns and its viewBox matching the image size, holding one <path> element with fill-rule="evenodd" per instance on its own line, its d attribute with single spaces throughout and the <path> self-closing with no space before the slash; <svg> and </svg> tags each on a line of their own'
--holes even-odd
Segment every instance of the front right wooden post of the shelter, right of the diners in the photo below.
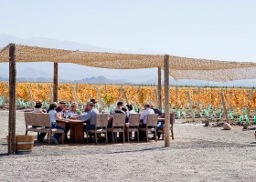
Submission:
<svg viewBox="0 0 256 182">
<path fill-rule="evenodd" d="M 165 147 L 170 146 L 169 56 L 165 55 Z"/>
</svg>

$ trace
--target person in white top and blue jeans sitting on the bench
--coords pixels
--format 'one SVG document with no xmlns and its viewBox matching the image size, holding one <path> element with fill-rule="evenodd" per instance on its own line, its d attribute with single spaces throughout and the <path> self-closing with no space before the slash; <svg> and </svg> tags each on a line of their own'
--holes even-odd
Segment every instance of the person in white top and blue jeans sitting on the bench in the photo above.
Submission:
<svg viewBox="0 0 256 182">
<path fill-rule="evenodd" d="M 57 126 L 57 123 L 56 123 L 56 120 L 59 119 L 59 116 L 57 115 L 57 111 L 55 110 L 57 108 L 57 103 L 56 102 L 53 102 L 53 103 L 50 103 L 49 107 L 48 107 L 48 115 L 49 115 L 49 119 L 50 119 L 50 122 L 51 122 L 51 127 L 52 128 L 56 128 L 56 129 L 62 129 L 65 131 L 64 128 L 60 127 L 60 126 Z M 55 144 L 59 144 L 58 142 L 58 139 L 59 137 L 61 136 L 62 134 L 61 133 L 56 133 L 54 134 L 54 136 L 51 136 L 50 139 L 55 143 Z M 46 136 L 46 133 L 41 133 L 40 135 L 40 138 L 44 138 Z M 39 137 L 38 136 L 38 137 Z"/>
</svg>

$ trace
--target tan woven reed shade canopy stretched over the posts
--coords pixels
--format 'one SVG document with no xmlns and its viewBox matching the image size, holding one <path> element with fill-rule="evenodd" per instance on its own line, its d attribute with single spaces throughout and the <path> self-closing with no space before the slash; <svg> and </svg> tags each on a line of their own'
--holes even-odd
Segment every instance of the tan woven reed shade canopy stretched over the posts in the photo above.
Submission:
<svg viewBox="0 0 256 182">
<path fill-rule="evenodd" d="M 6 45 L 0 50 L 0 62 L 8 62 L 8 47 L 9 45 Z M 226 82 L 256 79 L 256 63 L 169 57 L 169 75 L 176 80 L 197 79 Z M 72 51 L 27 45 L 16 45 L 16 62 L 73 63 L 111 69 L 164 68 L 164 56 L 162 55 Z"/>
</svg>

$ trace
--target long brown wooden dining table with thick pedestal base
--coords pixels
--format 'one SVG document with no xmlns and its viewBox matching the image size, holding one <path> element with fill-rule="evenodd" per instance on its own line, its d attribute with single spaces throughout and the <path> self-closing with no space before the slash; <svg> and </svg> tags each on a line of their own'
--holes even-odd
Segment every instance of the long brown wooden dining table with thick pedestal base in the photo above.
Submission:
<svg viewBox="0 0 256 182">
<path fill-rule="evenodd" d="M 69 141 L 71 143 L 83 143 L 83 121 L 81 120 L 73 120 L 73 119 L 60 119 L 57 120 L 59 126 L 63 128 L 66 127 L 67 124 L 70 124 L 70 138 Z"/>
</svg>

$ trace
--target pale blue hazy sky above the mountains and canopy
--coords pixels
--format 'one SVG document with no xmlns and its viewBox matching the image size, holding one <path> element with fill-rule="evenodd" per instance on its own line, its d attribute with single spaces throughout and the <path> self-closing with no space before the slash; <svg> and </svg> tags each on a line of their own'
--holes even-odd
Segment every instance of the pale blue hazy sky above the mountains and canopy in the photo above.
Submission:
<svg viewBox="0 0 256 182">
<path fill-rule="evenodd" d="M 0 34 L 256 61 L 255 0 L 0 0 Z"/>
</svg>

